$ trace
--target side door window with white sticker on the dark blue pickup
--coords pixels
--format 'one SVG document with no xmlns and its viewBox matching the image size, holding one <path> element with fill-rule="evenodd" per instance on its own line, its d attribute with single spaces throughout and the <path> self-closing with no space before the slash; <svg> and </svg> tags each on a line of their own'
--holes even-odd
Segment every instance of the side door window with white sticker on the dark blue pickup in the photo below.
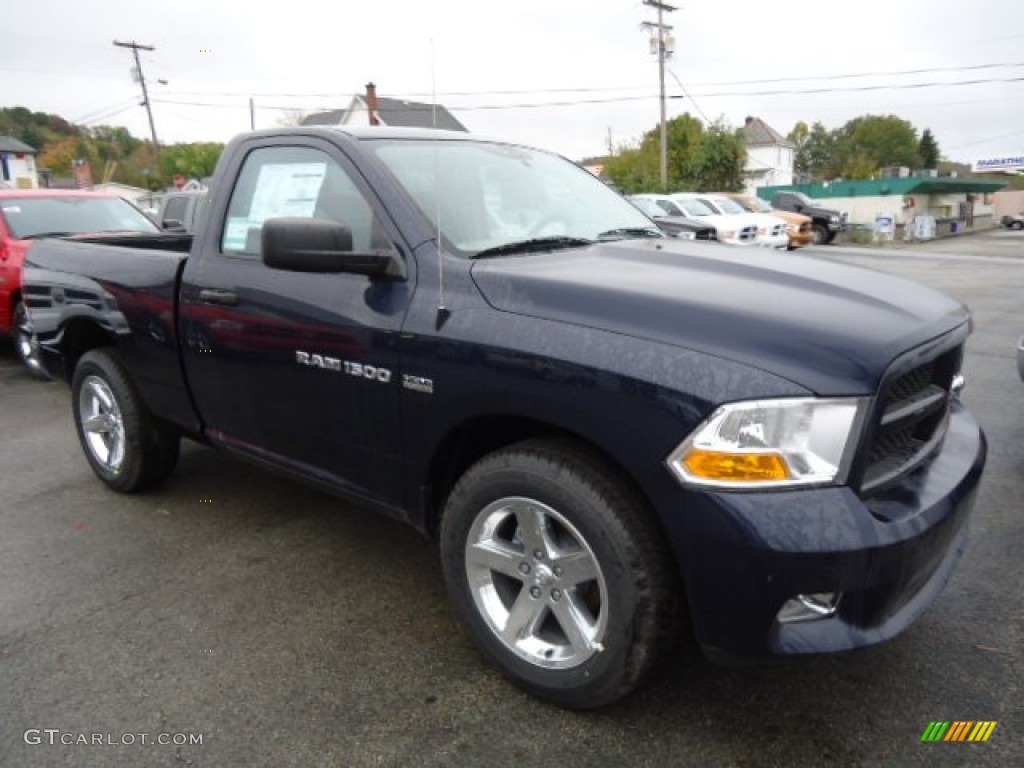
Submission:
<svg viewBox="0 0 1024 768">
<path fill-rule="evenodd" d="M 231 193 L 221 251 L 258 259 L 263 222 L 286 216 L 344 224 L 355 251 L 391 248 L 370 204 L 328 155 L 309 146 L 254 150 Z"/>
</svg>

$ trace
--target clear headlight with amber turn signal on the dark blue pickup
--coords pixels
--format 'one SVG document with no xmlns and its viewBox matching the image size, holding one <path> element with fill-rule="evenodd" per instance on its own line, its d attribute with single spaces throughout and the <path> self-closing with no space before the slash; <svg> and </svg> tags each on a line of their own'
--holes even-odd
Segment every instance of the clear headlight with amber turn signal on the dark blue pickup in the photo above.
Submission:
<svg viewBox="0 0 1024 768">
<path fill-rule="evenodd" d="M 752 400 L 723 406 L 667 462 L 688 485 L 788 487 L 846 480 L 866 400 Z"/>
</svg>

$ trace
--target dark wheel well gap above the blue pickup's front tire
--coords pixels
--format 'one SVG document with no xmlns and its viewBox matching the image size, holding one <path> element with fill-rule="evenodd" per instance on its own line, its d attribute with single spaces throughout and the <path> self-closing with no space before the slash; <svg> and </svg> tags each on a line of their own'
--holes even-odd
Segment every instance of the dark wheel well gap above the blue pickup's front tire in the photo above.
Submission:
<svg viewBox="0 0 1024 768">
<path fill-rule="evenodd" d="M 444 501 L 462 474 L 488 454 L 523 440 L 557 437 L 575 443 L 609 466 L 618 479 L 644 502 L 647 497 L 639 483 L 596 443 L 574 432 L 547 422 L 515 416 L 483 416 L 453 430 L 434 452 L 427 473 L 424 497 L 424 527 L 436 537 Z"/>
</svg>

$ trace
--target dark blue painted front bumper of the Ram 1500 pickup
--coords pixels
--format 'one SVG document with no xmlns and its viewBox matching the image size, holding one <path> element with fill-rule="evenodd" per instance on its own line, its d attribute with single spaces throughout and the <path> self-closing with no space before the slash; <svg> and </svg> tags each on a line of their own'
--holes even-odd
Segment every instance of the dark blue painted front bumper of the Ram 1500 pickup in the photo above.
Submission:
<svg viewBox="0 0 1024 768">
<path fill-rule="evenodd" d="M 841 651 L 909 626 L 949 581 L 985 465 L 958 402 L 938 454 L 867 501 L 848 487 L 693 494 L 670 527 L 697 640 L 712 656 Z M 841 593 L 836 612 L 777 620 L 797 595 Z"/>
</svg>

